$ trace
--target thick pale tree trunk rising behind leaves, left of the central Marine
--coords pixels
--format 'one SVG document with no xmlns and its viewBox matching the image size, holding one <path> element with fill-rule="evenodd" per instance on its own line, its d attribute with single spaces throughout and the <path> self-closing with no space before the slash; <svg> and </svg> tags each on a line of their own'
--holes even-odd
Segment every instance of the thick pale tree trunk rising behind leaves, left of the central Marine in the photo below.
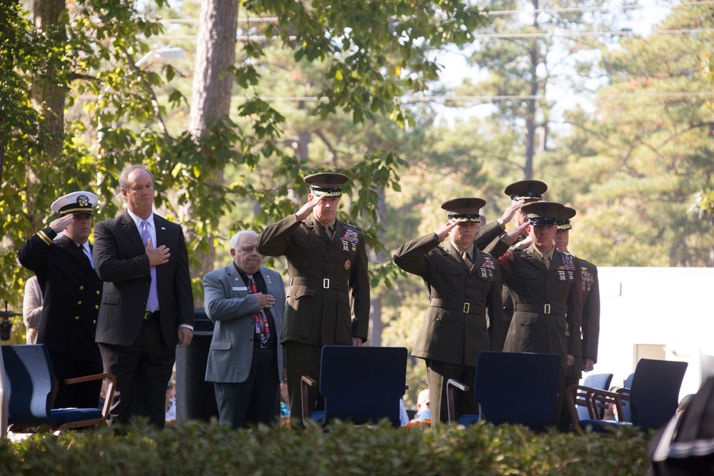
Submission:
<svg viewBox="0 0 714 476">
<path fill-rule="evenodd" d="M 228 116 L 231 108 L 233 75 L 226 69 L 236 62 L 238 0 L 203 0 L 196 43 L 196 68 L 193 71 L 191 117 L 188 129 L 194 138 L 206 131 L 211 118 Z M 216 171 L 215 183 L 223 183 L 223 170 Z M 190 203 L 188 207 L 190 207 Z M 213 236 L 206 237 L 209 251 L 203 255 L 197 275 L 213 270 L 216 248 Z M 201 305 L 196 298 L 196 305 Z"/>
</svg>

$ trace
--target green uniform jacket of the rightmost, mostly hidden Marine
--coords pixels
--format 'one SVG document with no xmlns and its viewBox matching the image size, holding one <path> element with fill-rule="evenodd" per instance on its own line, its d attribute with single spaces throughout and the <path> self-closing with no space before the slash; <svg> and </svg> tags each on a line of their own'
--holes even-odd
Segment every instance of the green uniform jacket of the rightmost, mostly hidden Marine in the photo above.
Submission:
<svg viewBox="0 0 714 476">
<path fill-rule="evenodd" d="M 577 378 L 583 376 L 583 359 L 589 357 L 598 361 L 598 342 L 600 340 L 600 283 L 598 267 L 583 258 L 576 258 L 580 265 L 583 293 L 583 314 L 580 321 L 582 352 L 575 356 L 575 364 L 568 368 L 565 376 Z"/>
</svg>

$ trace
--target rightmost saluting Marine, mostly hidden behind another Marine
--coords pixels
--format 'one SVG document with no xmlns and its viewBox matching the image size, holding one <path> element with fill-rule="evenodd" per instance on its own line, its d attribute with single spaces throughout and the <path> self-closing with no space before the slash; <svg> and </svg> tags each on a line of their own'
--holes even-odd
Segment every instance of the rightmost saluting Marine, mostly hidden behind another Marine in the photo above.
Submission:
<svg viewBox="0 0 714 476">
<path fill-rule="evenodd" d="M 565 207 L 558 213 L 558 231 L 555 232 L 553 244 L 555 249 L 568 253 L 568 243 L 570 242 L 570 218 L 575 216 L 575 209 Z M 568 253 L 569 254 L 569 253 Z M 583 294 L 583 313 L 580 320 L 580 327 L 576 328 L 575 338 L 580 339 L 582 352 L 575 355 L 575 362 L 565 370 L 565 388 L 570 385 L 578 385 L 583 372 L 590 372 L 598 361 L 598 342 L 600 340 L 600 283 L 598 281 L 598 268 L 583 258 L 577 257 L 580 267 L 582 282 L 580 289 Z M 563 405 L 560 415 L 561 426 L 569 427 L 570 411 L 567 405 Z"/>
</svg>

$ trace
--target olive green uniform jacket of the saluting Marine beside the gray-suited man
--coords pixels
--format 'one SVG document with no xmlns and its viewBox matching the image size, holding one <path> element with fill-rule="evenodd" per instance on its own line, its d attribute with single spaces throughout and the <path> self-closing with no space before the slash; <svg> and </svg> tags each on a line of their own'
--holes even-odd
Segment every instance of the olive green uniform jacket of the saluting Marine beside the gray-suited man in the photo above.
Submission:
<svg viewBox="0 0 714 476">
<path fill-rule="evenodd" d="M 268 226 L 256 240 L 259 253 L 285 255 L 288 260 L 291 285 L 281 343 L 352 345 L 353 337 L 367 340 L 370 300 L 364 235 L 339 220 L 331 240 L 321 228 L 313 215 L 304 221 L 292 215 Z"/>
</svg>

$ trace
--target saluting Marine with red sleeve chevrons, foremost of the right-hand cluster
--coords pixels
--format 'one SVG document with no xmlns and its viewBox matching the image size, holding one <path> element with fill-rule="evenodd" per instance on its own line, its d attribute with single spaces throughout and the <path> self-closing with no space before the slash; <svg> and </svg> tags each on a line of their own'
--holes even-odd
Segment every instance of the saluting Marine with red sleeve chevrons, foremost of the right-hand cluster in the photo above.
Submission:
<svg viewBox="0 0 714 476">
<path fill-rule="evenodd" d="M 498 259 L 503 282 L 508 284 L 514 303 L 503 350 L 561 355 L 560 398 L 553 412 L 553 422 L 557 423 L 565 390 L 565 368 L 573 365 L 580 352 L 580 339 L 575 338 L 582 313 L 580 269 L 573 255 L 553 246 L 555 221 L 563 205 L 535 202 L 521 210 L 528 216 L 526 231 L 533 244 L 526 250 L 511 248 Z"/>
</svg>

